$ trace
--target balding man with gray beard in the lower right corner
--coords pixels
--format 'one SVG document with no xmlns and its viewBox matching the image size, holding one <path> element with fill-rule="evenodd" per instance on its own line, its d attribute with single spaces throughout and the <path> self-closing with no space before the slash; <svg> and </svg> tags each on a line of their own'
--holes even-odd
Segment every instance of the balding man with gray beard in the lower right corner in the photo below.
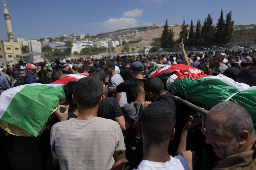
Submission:
<svg viewBox="0 0 256 170">
<path fill-rule="evenodd" d="M 256 136 L 251 116 L 244 107 L 222 102 L 206 116 L 203 133 L 222 160 L 214 169 L 255 169 Z"/>
</svg>

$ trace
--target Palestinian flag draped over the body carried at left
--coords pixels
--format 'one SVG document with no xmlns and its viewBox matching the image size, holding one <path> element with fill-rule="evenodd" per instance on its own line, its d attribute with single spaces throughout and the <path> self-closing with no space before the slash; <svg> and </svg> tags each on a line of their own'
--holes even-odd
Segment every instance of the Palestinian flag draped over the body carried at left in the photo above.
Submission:
<svg viewBox="0 0 256 170">
<path fill-rule="evenodd" d="M 84 75 L 69 74 L 52 84 L 33 83 L 10 88 L 0 96 L 0 127 L 17 136 L 38 136 L 64 97 L 62 85 Z"/>
</svg>

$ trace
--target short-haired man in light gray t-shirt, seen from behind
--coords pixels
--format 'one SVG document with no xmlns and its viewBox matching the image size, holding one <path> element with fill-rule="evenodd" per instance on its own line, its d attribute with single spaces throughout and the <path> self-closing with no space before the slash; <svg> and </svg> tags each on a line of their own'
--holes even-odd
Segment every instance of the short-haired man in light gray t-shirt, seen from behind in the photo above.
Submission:
<svg viewBox="0 0 256 170">
<path fill-rule="evenodd" d="M 96 78 L 77 81 L 72 100 L 78 117 L 56 123 L 50 132 L 54 165 L 61 169 L 111 169 L 123 159 L 125 145 L 119 124 L 97 117 L 105 98 L 102 92 L 102 82 Z"/>
</svg>

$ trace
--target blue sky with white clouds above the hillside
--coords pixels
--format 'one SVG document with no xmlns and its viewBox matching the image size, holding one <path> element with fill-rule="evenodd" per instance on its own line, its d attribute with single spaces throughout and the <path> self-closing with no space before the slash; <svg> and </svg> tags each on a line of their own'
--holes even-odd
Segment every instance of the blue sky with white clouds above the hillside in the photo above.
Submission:
<svg viewBox="0 0 256 170">
<path fill-rule="evenodd" d="M 5 0 L 11 14 L 14 37 L 36 39 L 60 34 L 96 35 L 123 28 L 190 24 L 204 21 L 211 14 L 216 25 L 223 10 L 224 18 L 232 11 L 235 25 L 256 23 L 255 0 Z M 0 39 L 6 38 L 0 0 Z"/>
</svg>

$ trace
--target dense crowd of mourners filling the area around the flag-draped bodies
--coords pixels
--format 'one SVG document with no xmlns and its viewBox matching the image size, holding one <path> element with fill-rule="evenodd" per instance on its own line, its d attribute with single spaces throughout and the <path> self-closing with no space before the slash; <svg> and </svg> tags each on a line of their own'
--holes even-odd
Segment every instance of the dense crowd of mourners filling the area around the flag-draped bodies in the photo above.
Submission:
<svg viewBox="0 0 256 170">
<path fill-rule="evenodd" d="M 244 107 L 219 103 L 201 127 L 197 113 L 174 100 L 160 78 L 145 76 L 157 64 L 182 63 L 255 86 L 256 51 L 187 54 L 183 42 L 179 47 L 181 53 L 2 65 L 0 94 L 68 74 L 87 76 L 63 85 L 65 102 L 42 135 L 19 137 L 2 129 L 2 165 L 15 170 L 256 169 L 255 128 Z"/>
</svg>

